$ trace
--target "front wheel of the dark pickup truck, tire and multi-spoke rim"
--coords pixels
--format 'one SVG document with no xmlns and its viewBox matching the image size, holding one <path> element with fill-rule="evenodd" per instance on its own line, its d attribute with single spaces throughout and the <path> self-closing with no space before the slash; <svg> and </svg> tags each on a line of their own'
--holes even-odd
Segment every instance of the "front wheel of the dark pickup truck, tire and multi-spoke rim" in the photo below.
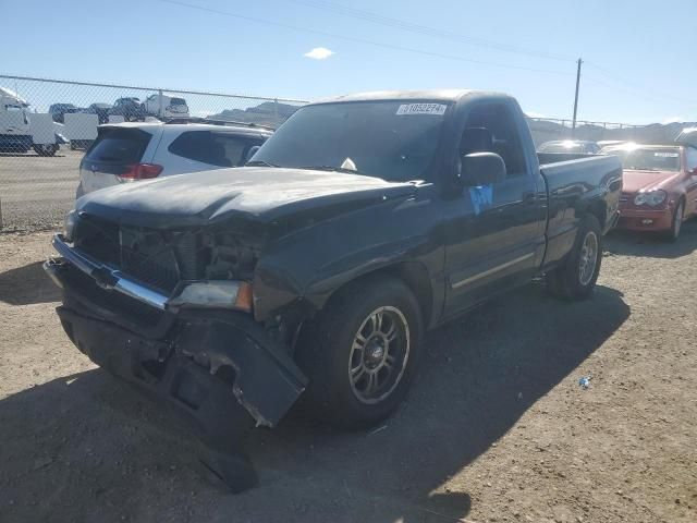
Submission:
<svg viewBox="0 0 697 523">
<path fill-rule="evenodd" d="M 421 332 L 418 302 L 401 280 L 371 276 L 340 290 L 298 340 L 313 417 L 363 428 L 391 414 L 416 372 Z"/>
</svg>

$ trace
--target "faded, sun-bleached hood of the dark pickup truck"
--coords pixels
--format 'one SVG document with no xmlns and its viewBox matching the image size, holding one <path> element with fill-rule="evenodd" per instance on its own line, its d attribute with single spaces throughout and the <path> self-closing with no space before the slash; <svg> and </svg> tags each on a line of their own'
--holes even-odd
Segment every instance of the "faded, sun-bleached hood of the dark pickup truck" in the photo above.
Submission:
<svg viewBox="0 0 697 523">
<path fill-rule="evenodd" d="M 346 206 L 351 203 L 357 208 L 414 191 L 413 183 L 359 174 L 245 167 L 108 187 L 80 198 L 76 210 L 151 228 L 213 223 L 235 215 L 267 222 L 331 206 L 354 208 Z"/>
</svg>

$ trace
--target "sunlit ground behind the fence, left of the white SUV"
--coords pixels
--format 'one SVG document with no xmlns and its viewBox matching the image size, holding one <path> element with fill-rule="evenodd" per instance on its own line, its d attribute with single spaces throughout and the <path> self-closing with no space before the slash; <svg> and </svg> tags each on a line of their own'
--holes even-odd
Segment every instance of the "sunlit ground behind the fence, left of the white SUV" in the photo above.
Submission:
<svg viewBox="0 0 697 523">
<path fill-rule="evenodd" d="M 75 203 L 84 150 L 63 146 L 56 156 L 0 153 L 0 206 L 3 230 L 49 229 Z"/>
</svg>

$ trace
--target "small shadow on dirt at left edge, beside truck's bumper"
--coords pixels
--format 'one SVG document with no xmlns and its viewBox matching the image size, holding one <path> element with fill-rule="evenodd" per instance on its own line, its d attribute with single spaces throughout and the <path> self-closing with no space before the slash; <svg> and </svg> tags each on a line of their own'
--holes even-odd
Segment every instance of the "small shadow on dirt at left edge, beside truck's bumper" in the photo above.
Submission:
<svg viewBox="0 0 697 523">
<path fill-rule="evenodd" d="M 42 262 L 0 272 L 0 302 L 10 305 L 30 305 L 56 302 L 61 290 L 42 268 Z"/>
</svg>

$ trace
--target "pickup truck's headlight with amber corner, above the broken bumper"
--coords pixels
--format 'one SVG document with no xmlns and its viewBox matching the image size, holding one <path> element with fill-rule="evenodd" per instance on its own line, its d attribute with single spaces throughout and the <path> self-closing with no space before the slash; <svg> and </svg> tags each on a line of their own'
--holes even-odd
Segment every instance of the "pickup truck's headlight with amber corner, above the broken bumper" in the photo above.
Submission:
<svg viewBox="0 0 697 523">
<path fill-rule="evenodd" d="M 246 281 L 194 281 L 167 302 L 167 308 L 230 308 L 252 312 L 252 285 Z"/>
</svg>

